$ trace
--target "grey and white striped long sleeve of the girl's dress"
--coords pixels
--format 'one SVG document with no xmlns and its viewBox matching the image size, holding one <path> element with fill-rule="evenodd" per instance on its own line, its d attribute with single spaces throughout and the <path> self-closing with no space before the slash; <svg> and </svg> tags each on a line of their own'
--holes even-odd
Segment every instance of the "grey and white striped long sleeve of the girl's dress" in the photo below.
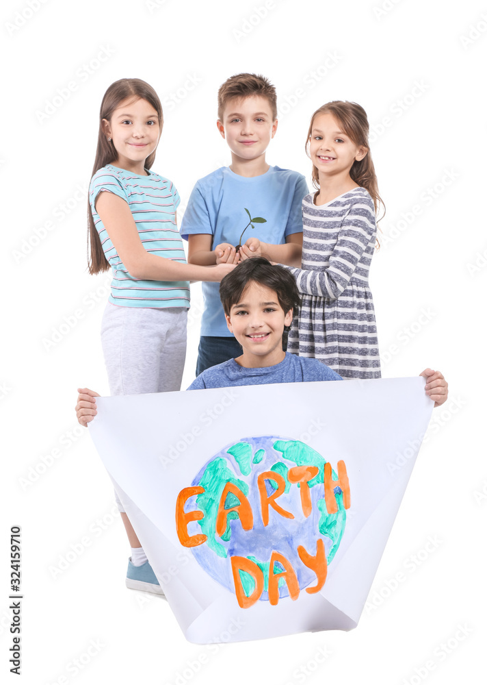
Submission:
<svg viewBox="0 0 487 685">
<path fill-rule="evenodd" d="M 338 299 L 356 271 L 358 262 L 376 236 L 373 202 L 360 197 L 350 207 L 339 230 L 338 239 L 322 271 L 287 267 L 295 276 L 298 290 L 306 295 Z"/>
</svg>

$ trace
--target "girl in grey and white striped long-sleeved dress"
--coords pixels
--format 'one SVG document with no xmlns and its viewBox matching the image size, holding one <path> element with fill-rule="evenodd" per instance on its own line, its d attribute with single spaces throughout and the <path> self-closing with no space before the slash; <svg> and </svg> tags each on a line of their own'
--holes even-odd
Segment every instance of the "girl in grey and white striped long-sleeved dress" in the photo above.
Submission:
<svg viewBox="0 0 487 685">
<path fill-rule="evenodd" d="M 317 192 L 302 203 L 302 293 L 289 352 L 315 357 L 343 378 L 380 378 L 369 267 L 382 203 L 360 105 L 333 101 L 311 117 L 306 152 Z"/>
</svg>

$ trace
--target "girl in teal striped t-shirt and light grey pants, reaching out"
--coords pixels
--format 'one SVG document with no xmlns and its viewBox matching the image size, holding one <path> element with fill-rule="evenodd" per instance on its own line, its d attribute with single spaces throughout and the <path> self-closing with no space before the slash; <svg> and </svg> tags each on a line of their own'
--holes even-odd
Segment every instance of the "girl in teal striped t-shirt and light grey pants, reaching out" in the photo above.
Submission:
<svg viewBox="0 0 487 685">
<path fill-rule="evenodd" d="M 189 281 L 219 282 L 233 264 L 187 264 L 176 225 L 180 199 L 150 167 L 163 125 L 157 93 L 140 79 L 109 86 L 100 110 L 90 183 L 89 271 L 111 268 L 102 347 L 112 395 L 180 390 Z M 87 409 L 96 393 L 79 388 Z M 96 412 L 92 411 L 92 414 Z M 162 594 L 122 503 L 132 556 L 127 587 Z"/>
</svg>

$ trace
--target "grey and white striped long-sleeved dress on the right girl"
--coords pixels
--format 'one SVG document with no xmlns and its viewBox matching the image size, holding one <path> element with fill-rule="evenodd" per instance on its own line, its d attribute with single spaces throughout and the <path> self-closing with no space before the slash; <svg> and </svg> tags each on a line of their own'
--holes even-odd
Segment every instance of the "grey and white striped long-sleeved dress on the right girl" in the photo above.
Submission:
<svg viewBox="0 0 487 685">
<path fill-rule="evenodd" d="M 376 213 L 365 188 L 325 205 L 313 194 L 302 203 L 302 268 L 295 275 L 302 307 L 287 349 L 315 357 L 343 378 L 380 378 L 376 316 L 369 268 L 376 244 Z"/>
</svg>

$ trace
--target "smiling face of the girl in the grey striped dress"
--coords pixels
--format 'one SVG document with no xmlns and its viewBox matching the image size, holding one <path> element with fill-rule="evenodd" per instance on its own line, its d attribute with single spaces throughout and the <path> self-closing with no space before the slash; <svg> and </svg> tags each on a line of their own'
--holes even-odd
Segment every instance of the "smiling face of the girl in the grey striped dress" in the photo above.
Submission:
<svg viewBox="0 0 487 685">
<path fill-rule="evenodd" d="M 350 175 L 355 160 L 363 160 L 367 148 L 356 145 L 330 112 L 313 119 L 309 142 L 311 161 L 318 169 L 320 186 L 327 178 Z"/>
</svg>

